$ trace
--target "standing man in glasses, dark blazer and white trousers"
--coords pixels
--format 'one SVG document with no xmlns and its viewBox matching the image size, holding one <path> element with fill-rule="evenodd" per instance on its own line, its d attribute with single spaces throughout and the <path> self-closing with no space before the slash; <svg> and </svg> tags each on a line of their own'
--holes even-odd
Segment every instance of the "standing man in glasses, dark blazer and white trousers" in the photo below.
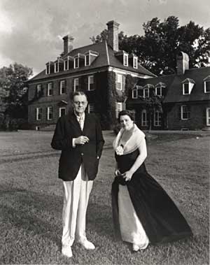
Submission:
<svg viewBox="0 0 210 265">
<path fill-rule="evenodd" d="M 59 178 L 64 185 L 62 254 L 67 257 L 72 257 L 74 239 L 87 250 L 94 250 L 85 236 L 86 210 L 104 145 L 99 121 L 85 113 L 85 93 L 74 92 L 72 104 L 73 113 L 59 118 L 51 143 L 52 148 L 62 150 L 59 159 Z"/>
</svg>

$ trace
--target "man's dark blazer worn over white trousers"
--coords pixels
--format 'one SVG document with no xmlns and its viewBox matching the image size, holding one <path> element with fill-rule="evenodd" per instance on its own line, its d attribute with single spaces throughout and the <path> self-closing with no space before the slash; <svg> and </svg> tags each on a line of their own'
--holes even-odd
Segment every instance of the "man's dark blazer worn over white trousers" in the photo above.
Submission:
<svg viewBox="0 0 210 265">
<path fill-rule="evenodd" d="M 87 136 L 90 141 L 73 148 L 72 139 L 79 136 Z M 85 113 L 83 131 L 74 113 L 60 117 L 51 143 L 52 148 L 62 150 L 59 159 L 59 178 L 65 181 L 74 180 L 83 162 L 88 180 L 94 180 L 103 145 L 102 129 L 94 114 Z"/>
</svg>

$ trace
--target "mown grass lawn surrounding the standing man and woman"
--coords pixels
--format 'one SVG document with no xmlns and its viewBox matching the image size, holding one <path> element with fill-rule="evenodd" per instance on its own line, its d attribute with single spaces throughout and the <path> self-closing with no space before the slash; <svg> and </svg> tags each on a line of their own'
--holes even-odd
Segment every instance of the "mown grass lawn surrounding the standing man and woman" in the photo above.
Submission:
<svg viewBox="0 0 210 265">
<path fill-rule="evenodd" d="M 209 136 L 157 134 L 148 139 L 148 172 L 160 182 L 186 216 L 194 236 L 132 253 L 113 238 L 111 182 L 113 134 L 106 145 L 87 210 L 87 238 L 96 250 L 74 244 L 63 257 L 62 180 L 52 133 L 0 133 L 0 264 L 209 264 Z M 199 136 L 199 138 L 196 138 Z"/>
</svg>

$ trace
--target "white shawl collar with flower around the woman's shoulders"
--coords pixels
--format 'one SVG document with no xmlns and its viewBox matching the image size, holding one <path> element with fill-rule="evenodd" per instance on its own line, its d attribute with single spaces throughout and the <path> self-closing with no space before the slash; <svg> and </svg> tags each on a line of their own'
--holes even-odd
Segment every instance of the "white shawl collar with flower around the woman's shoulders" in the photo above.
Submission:
<svg viewBox="0 0 210 265">
<path fill-rule="evenodd" d="M 132 135 L 122 147 L 121 145 L 119 146 L 119 142 L 121 137 L 123 136 L 124 131 L 125 129 L 120 129 L 117 137 L 113 141 L 113 148 L 118 155 L 127 155 L 131 152 L 134 152 L 134 150 L 137 150 L 137 148 L 140 147 L 141 141 L 145 138 L 144 132 L 141 131 L 136 124 L 134 124 L 134 128 L 132 129 Z"/>
</svg>

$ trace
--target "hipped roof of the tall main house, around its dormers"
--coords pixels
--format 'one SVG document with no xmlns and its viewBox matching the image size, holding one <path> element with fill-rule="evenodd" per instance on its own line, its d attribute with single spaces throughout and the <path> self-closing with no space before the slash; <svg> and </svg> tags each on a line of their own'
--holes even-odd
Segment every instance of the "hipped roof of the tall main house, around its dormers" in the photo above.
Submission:
<svg viewBox="0 0 210 265">
<path fill-rule="evenodd" d="M 146 76 L 155 76 L 153 73 L 145 69 L 143 66 L 138 64 L 138 69 L 134 69 L 132 66 L 124 66 L 122 62 L 115 56 L 115 51 L 107 45 L 106 41 L 102 41 L 100 43 L 94 43 L 91 45 L 86 45 L 80 48 L 76 48 L 71 50 L 67 55 L 64 55 L 62 59 L 65 59 L 67 56 L 76 56 L 78 53 L 85 54 L 85 52 L 88 52 L 89 50 L 92 50 L 94 52 L 98 52 L 99 56 L 94 59 L 92 64 L 90 66 L 82 66 L 77 69 L 70 69 L 69 71 L 60 71 L 58 73 L 50 73 L 48 75 L 45 74 L 45 70 L 41 71 L 41 73 L 38 73 L 34 78 L 31 78 L 30 81 L 34 80 L 40 80 L 43 78 L 49 78 L 54 76 L 63 76 L 63 75 L 69 75 L 72 73 L 80 73 L 83 71 L 90 71 L 92 69 L 99 69 L 104 66 L 112 66 L 114 68 L 123 69 L 126 71 L 132 71 L 133 73 L 139 73 Z"/>
</svg>

